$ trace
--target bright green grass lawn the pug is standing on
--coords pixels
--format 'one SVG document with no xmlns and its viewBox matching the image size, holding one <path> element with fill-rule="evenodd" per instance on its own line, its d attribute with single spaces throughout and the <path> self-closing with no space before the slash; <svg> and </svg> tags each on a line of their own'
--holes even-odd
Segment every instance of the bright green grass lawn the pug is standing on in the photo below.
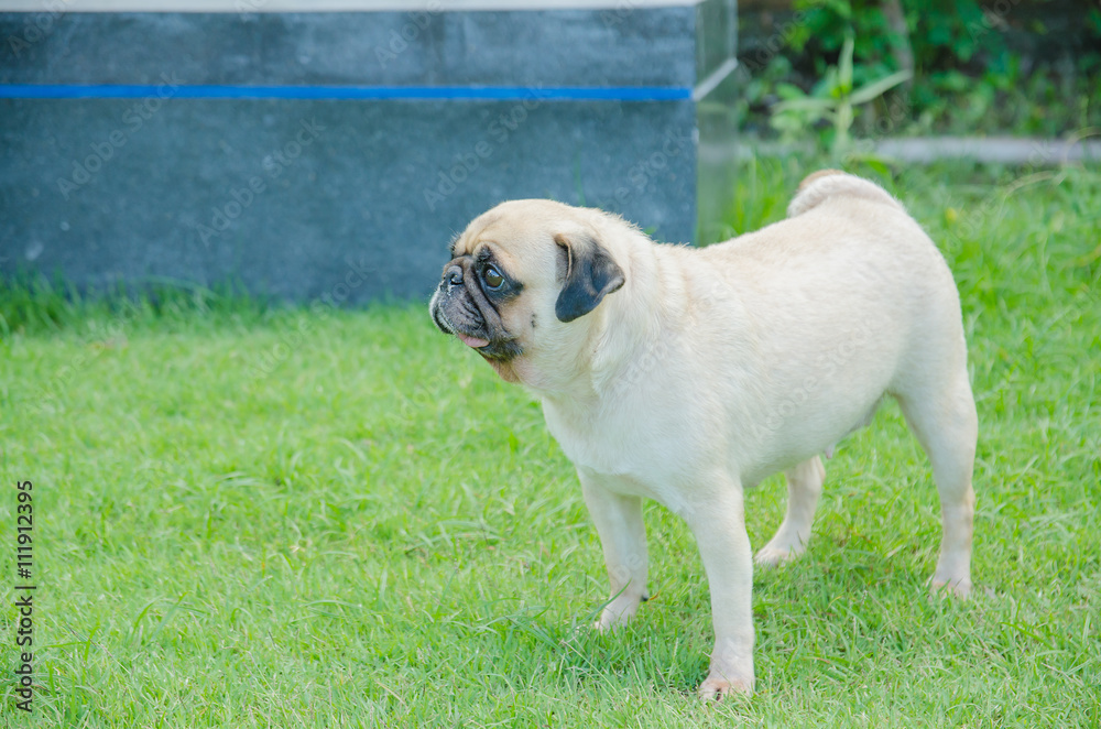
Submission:
<svg viewBox="0 0 1101 729">
<path fill-rule="evenodd" d="M 809 171 L 746 164 L 728 222 L 781 217 Z M 827 461 L 806 557 L 754 577 L 756 695 L 702 705 L 687 529 L 647 507 L 654 598 L 620 633 L 587 630 L 606 577 L 569 463 L 424 305 L 9 290 L 0 725 L 1101 726 L 1101 171 L 886 184 L 963 302 L 972 600 L 927 595 L 936 490 L 884 407 Z M 31 717 L 11 672 L 18 480 L 34 485 Z M 783 500 L 777 479 L 749 494 L 754 546 Z"/>
</svg>

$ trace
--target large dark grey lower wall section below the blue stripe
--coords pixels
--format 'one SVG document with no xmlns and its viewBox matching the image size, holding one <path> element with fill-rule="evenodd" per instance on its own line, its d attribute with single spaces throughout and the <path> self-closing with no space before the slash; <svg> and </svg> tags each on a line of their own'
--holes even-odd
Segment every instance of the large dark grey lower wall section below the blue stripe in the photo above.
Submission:
<svg viewBox="0 0 1101 729">
<path fill-rule="evenodd" d="M 356 303 L 426 295 L 449 236 L 503 199 L 693 237 L 688 101 L 170 98 L 140 126 L 137 104 L 0 99 L 0 269 L 304 300 L 366 266 Z"/>
</svg>

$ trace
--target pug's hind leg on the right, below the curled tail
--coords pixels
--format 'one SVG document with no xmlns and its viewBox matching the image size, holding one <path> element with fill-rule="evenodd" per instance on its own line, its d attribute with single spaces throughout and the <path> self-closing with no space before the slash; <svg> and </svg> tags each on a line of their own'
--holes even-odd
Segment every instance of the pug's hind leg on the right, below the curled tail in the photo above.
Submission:
<svg viewBox="0 0 1101 729">
<path fill-rule="evenodd" d="M 920 388 L 922 391 L 911 389 L 900 394 L 898 403 L 929 457 L 940 493 L 944 534 L 933 588 L 947 587 L 956 595 L 967 597 L 971 591 L 974 522 L 971 477 L 979 418 L 966 366 L 955 368 L 944 379 L 927 382 L 928 387 Z"/>
</svg>

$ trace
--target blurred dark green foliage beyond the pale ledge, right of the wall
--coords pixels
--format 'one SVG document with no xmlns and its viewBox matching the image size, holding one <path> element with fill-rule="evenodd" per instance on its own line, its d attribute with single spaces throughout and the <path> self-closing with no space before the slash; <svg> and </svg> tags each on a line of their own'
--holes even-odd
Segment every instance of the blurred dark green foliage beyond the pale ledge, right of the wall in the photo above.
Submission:
<svg viewBox="0 0 1101 729">
<path fill-rule="evenodd" d="M 776 101 L 836 90 L 853 39 L 852 83 L 912 78 L 860 105 L 858 135 L 1061 138 L 1101 123 L 1101 7 L 1088 0 L 743 0 L 742 128 L 799 131 Z"/>
</svg>

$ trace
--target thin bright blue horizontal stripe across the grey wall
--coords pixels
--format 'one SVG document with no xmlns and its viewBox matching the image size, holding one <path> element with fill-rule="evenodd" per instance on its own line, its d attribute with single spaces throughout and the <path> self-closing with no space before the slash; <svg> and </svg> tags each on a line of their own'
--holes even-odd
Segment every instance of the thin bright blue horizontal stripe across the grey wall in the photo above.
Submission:
<svg viewBox="0 0 1101 729">
<path fill-rule="evenodd" d="M 470 99 L 559 101 L 680 101 L 691 89 L 677 86 L 170 86 L 94 84 L 0 84 L 9 99 Z"/>
</svg>

